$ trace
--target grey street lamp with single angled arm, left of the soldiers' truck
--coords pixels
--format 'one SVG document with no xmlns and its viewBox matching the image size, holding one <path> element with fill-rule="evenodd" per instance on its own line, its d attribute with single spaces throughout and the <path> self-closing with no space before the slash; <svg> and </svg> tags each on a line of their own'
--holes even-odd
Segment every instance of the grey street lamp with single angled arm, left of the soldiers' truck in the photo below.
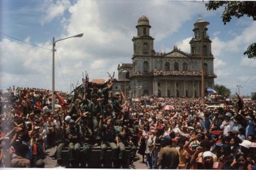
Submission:
<svg viewBox="0 0 256 170">
<path fill-rule="evenodd" d="M 68 39 L 68 38 L 75 38 L 75 37 L 82 37 L 84 34 L 77 34 L 76 36 L 70 36 L 67 38 L 63 38 L 63 39 L 58 39 L 55 41 L 55 38 L 52 38 L 52 112 L 55 113 L 55 96 L 54 96 L 54 91 L 55 91 L 55 73 L 54 73 L 54 53 L 55 53 L 55 45 L 58 41 L 62 41 L 64 39 Z"/>
</svg>

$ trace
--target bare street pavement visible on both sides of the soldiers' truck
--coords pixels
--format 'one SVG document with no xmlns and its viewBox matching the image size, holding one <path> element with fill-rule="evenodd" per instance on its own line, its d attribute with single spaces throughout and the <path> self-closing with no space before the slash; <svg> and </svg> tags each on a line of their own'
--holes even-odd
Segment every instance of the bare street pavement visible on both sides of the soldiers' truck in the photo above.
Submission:
<svg viewBox="0 0 256 170">
<path fill-rule="evenodd" d="M 56 168 L 56 163 L 57 163 L 57 160 L 54 160 L 52 159 L 50 156 L 53 155 L 53 153 L 55 152 L 56 150 L 56 146 L 55 147 L 52 147 L 52 148 L 48 148 L 46 150 L 46 157 L 44 159 L 44 162 L 45 162 L 45 168 Z M 131 167 L 130 166 L 130 169 L 147 169 L 147 166 L 146 164 L 142 164 L 141 163 L 141 155 L 137 153 L 137 157 L 138 157 L 138 160 L 136 160 L 136 162 L 134 162 L 134 166 L 135 167 Z M 144 159 L 146 160 L 146 159 Z M 59 166 L 58 168 L 65 168 L 65 167 L 61 167 Z"/>
</svg>

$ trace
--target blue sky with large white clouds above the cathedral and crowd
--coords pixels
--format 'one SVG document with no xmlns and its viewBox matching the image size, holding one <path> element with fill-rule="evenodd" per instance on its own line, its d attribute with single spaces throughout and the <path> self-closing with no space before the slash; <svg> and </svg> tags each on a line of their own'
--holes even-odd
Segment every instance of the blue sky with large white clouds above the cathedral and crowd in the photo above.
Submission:
<svg viewBox="0 0 256 170">
<path fill-rule="evenodd" d="M 55 89 L 70 92 L 70 83 L 89 78 L 108 78 L 117 73 L 119 62 L 132 62 L 132 37 L 136 24 L 146 15 L 152 26 L 154 48 L 170 52 L 174 45 L 190 52 L 194 23 L 201 15 L 212 40 L 214 83 L 224 85 L 232 94 L 256 92 L 256 60 L 243 55 L 255 42 L 256 22 L 252 18 L 232 18 L 223 25 L 221 13 L 207 11 L 207 1 L 153 0 L 1 0 L 0 1 L 0 89 L 36 87 L 51 89 L 52 38 L 84 33 L 56 43 Z M 8 36 L 6 36 L 8 35 Z M 31 46 L 21 41 L 31 43 Z M 117 74 L 116 74 L 117 75 Z"/>
</svg>

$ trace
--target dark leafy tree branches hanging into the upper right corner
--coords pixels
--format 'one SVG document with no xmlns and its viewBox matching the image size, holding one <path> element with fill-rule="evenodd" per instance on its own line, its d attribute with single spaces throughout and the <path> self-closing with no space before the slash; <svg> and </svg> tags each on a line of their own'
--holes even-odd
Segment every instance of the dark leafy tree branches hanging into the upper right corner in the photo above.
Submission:
<svg viewBox="0 0 256 170">
<path fill-rule="evenodd" d="M 207 10 L 217 10 L 225 6 L 221 16 L 224 25 L 230 22 L 232 17 L 240 18 L 244 15 L 256 20 L 256 1 L 209 1 L 205 6 Z M 249 59 L 256 59 L 256 43 L 249 45 L 244 55 L 248 55 Z"/>
</svg>

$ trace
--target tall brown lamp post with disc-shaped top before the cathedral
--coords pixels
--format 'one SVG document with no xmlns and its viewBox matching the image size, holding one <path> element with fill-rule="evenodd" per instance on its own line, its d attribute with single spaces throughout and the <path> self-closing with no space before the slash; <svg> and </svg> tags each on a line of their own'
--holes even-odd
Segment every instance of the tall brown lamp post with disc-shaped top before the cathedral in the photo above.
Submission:
<svg viewBox="0 0 256 170">
<path fill-rule="evenodd" d="M 201 74 L 202 74 L 202 85 L 201 85 L 201 95 L 202 95 L 202 99 L 203 99 L 203 110 L 205 108 L 205 93 L 204 93 L 204 50 L 203 50 L 203 43 L 204 43 L 204 29 L 207 25 L 209 25 L 209 22 L 206 22 L 204 20 L 202 20 L 202 18 L 199 18 L 197 20 L 197 22 L 194 24 L 195 27 L 198 27 L 198 29 L 200 30 L 200 38 L 201 38 L 201 43 L 200 43 L 200 52 L 201 52 L 201 62 L 202 62 L 202 66 L 201 66 Z"/>
</svg>

